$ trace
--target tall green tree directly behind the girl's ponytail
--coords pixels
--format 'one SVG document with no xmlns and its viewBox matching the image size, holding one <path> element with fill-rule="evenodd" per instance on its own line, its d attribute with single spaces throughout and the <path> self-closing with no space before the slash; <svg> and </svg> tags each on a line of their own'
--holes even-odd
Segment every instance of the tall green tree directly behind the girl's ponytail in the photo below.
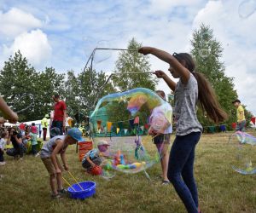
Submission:
<svg viewBox="0 0 256 213">
<path fill-rule="evenodd" d="M 234 89 L 233 78 L 225 76 L 224 63 L 220 60 L 223 47 L 214 37 L 209 26 L 201 25 L 199 30 L 193 33 L 191 54 L 196 61 L 196 72 L 202 72 L 215 89 L 218 101 L 225 112 L 229 114 L 227 123 L 235 122 L 232 114 L 232 101 L 237 98 Z M 203 125 L 210 125 L 212 121 L 199 110 L 198 118 Z"/>
</svg>

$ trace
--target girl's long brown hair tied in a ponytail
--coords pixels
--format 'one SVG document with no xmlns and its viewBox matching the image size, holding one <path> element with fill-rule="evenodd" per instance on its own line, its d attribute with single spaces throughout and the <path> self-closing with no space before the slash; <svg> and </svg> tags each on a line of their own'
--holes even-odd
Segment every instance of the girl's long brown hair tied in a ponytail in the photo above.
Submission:
<svg viewBox="0 0 256 213">
<path fill-rule="evenodd" d="M 202 111 L 207 112 L 207 115 L 215 123 L 223 122 L 225 119 L 227 119 L 228 115 L 220 107 L 211 83 L 209 83 L 204 74 L 201 72 L 195 72 L 195 61 L 191 55 L 187 53 L 174 53 L 173 56 L 178 60 L 178 62 L 183 64 L 183 66 L 185 66 L 197 80 L 198 100 L 200 102 Z"/>
</svg>

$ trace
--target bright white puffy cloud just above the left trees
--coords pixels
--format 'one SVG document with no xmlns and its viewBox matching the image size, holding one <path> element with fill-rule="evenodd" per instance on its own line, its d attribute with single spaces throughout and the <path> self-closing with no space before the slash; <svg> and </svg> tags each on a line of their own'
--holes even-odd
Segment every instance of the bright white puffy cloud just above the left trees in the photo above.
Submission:
<svg viewBox="0 0 256 213">
<path fill-rule="evenodd" d="M 4 55 L 14 55 L 18 50 L 29 60 L 32 66 L 36 67 L 42 66 L 51 55 L 47 35 L 41 30 L 23 32 L 15 37 L 15 41 L 10 47 L 5 46 Z"/>
</svg>

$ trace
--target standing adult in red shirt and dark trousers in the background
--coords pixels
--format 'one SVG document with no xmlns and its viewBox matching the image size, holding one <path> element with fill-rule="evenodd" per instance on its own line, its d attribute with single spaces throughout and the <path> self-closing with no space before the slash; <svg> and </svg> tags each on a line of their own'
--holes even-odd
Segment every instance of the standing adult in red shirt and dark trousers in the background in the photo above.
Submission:
<svg viewBox="0 0 256 213">
<path fill-rule="evenodd" d="M 60 100 L 60 95 L 55 94 L 52 95 L 53 101 L 55 101 L 54 107 L 54 118 L 51 123 L 52 128 L 58 128 L 60 130 L 60 135 L 63 135 L 63 131 L 65 131 L 66 124 L 66 103 Z M 52 135 L 50 135 L 52 137 Z"/>
</svg>

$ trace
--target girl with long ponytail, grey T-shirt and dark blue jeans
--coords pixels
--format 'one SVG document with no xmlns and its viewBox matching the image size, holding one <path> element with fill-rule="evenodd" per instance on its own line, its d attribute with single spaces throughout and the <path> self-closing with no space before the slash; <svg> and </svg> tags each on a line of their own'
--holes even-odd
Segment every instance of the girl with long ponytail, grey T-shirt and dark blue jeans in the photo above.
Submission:
<svg viewBox="0 0 256 213">
<path fill-rule="evenodd" d="M 170 65 L 168 70 L 172 77 L 179 78 L 175 83 L 165 72 L 154 72 L 174 91 L 176 138 L 170 152 L 167 176 L 188 212 L 201 212 L 194 178 L 194 161 L 195 146 L 200 140 L 203 128 L 196 117 L 196 105 L 199 102 L 203 112 L 207 112 L 208 117 L 217 124 L 223 122 L 227 114 L 219 106 L 211 84 L 203 74 L 195 71 L 195 62 L 191 55 L 171 55 L 152 47 L 143 47 L 138 52 L 164 60 Z"/>
</svg>

